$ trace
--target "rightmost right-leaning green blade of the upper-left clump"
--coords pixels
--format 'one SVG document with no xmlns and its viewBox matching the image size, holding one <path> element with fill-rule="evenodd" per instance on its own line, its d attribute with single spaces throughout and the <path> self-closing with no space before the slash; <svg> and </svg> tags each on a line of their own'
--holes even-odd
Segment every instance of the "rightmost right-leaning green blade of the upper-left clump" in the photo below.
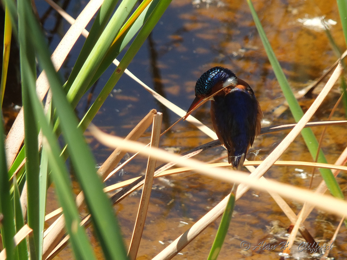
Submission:
<svg viewBox="0 0 347 260">
<path fill-rule="evenodd" d="M 136 36 L 135 40 L 129 47 L 129 50 L 124 54 L 123 58 L 121 59 L 119 65 L 117 66 L 115 72 L 111 75 L 110 79 L 106 83 L 105 87 L 99 94 L 96 101 L 92 104 L 92 106 L 89 108 L 88 112 L 85 114 L 83 119 L 80 122 L 80 125 L 82 126 L 82 129 L 86 129 L 86 127 L 91 122 L 92 118 L 96 115 L 96 113 L 99 111 L 101 105 L 105 102 L 106 98 L 118 82 L 120 76 L 123 74 L 126 67 L 129 65 L 135 54 L 138 52 L 138 50 L 141 48 L 142 44 L 147 39 L 148 35 L 153 30 L 154 26 L 158 23 L 160 17 L 163 15 L 165 10 L 168 8 L 169 4 L 171 3 L 171 0 L 161 0 L 159 1 L 158 5 L 155 7 L 153 13 L 151 13 L 150 17 L 148 18 L 147 22 L 141 29 L 141 31 Z"/>
</svg>

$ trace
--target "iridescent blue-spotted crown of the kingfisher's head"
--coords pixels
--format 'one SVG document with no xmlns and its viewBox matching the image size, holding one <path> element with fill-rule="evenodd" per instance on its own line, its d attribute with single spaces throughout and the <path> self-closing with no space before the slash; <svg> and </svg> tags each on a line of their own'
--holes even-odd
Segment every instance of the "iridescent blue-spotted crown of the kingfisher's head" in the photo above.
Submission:
<svg viewBox="0 0 347 260">
<path fill-rule="evenodd" d="M 228 79 L 233 78 L 236 80 L 236 75 L 229 69 L 217 66 L 209 69 L 196 81 L 195 95 L 208 96 L 212 88 L 218 83 L 225 83 Z"/>
</svg>

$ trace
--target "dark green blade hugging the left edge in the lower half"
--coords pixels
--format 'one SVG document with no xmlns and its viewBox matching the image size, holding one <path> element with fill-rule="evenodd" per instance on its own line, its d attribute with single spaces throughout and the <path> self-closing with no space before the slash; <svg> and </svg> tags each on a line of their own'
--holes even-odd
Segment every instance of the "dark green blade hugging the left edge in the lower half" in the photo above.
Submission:
<svg viewBox="0 0 347 260">
<path fill-rule="evenodd" d="M 1 219 L 0 229 L 2 244 L 7 253 L 7 260 L 13 260 L 15 259 L 13 237 L 16 231 L 13 208 L 10 198 L 10 185 L 7 173 L 3 136 L 3 122 L 2 119 L 0 119 L 0 213 L 3 215 L 3 218 Z"/>
</svg>

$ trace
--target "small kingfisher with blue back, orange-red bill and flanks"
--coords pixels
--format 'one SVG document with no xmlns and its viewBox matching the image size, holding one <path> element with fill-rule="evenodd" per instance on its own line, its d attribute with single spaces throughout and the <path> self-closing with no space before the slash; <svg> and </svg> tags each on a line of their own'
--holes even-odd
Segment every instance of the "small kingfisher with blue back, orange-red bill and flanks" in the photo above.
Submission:
<svg viewBox="0 0 347 260">
<path fill-rule="evenodd" d="M 195 99 L 184 119 L 207 98 L 211 100 L 213 128 L 228 151 L 228 162 L 238 169 L 260 133 L 263 117 L 260 104 L 248 83 L 221 66 L 209 69 L 196 81 Z"/>
</svg>

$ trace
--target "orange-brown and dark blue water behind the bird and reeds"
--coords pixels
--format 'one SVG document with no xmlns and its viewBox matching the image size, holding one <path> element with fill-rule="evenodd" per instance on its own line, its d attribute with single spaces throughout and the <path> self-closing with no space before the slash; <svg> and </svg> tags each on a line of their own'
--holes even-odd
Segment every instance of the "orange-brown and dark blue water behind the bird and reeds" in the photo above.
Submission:
<svg viewBox="0 0 347 260">
<path fill-rule="evenodd" d="M 336 21 L 337 24 L 331 27 L 331 34 L 338 47 L 342 51 L 346 49 L 336 1 L 258 0 L 253 3 L 293 91 L 298 91 L 318 79 L 337 59 L 326 33 L 305 26 L 299 19 L 325 16 L 326 20 Z M 36 4 L 53 50 L 67 31 L 68 25 L 57 18 L 55 11 L 50 10 L 43 0 L 36 1 Z M 60 1 L 59 4 L 76 17 L 86 1 Z M 83 39 L 80 39 L 74 47 L 76 51 L 72 52 L 65 62 L 62 75 L 68 75 L 76 59 L 74 53 L 78 53 L 82 44 Z M 289 110 L 279 116 L 274 115 L 276 107 L 283 104 L 285 99 L 244 0 L 212 0 L 208 3 L 173 0 L 128 68 L 158 93 L 187 109 L 194 98 L 195 81 L 215 65 L 230 68 L 251 85 L 264 112 L 263 126 L 294 122 Z M 110 68 L 97 82 L 92 99 L 96 98 L 98 91 L 108 79 L 107 75 L 110 75 L 113 69 L 114 67 Z M 313 102 L 316 93 L 299 100 L 304 110 Z M 312 120 L 327 119 L 339 96 L 339 86 L 336 86 Z M 86 96 L 78 106 L 78 115 L 82 116 L 87 107 Z M 125 136 L 152 108 L 164 114 L 162 130 L 178 119 L 177 115 L 159 104 L 141 86 L 123 75 L 93 122 L 109 133 Z M 194 112 L 194 116 L 212 128 L 208 103 Z M 333 118 L 346 118 L 342 104 Z M 322 128 L 313 130 L 319 139 Z M 288 131 L 259 136 L 250 150 L 248 159 L 264 159 L 287 133 Z M 150 131 L 141 141 L 147 143 L 149 136 Z M 86 137 L 98 163 L 102 163 L 112 151 L 99 145 L 89 136 Z M 346 140 L 346 126 L 328 127 L 322 148 L 329 163 L 334 163 L 345 149 Z M 183 153 L 209 141 L 210 138 L 188 122 L 180 122 L 161 138 L 160 147 L 174 153 Z M 225 151 L 219 147 L 208 150 L 197 158 L 209 161 L 221 155 L 225 155 Z M 281 159 L 313 160 L 301 137 L 296 138 Z M 146 161 L 146 158 L 142 157 L 135 159 L 108 184 L 143 174 Z M 308 178 L 302 178 L 299 170 L 306 173 Z M 307 188 L 311 169 L 299 170 L 295 167 L 276 166 L 265 176 Z M 321 180 L 318 171 L 315 176 L 313 187 Z M 345 176 L 345 173 L 342 173 L 338 178 L 343 190 L 346 187 Z M 77 190 L 76 187 L 76 192 Z M 230 184 L 193 172 L 155 180 L 138 259 L 153 258 L 228 195 L 230 190 Z M 346 195 L 346 192 L 344 193 Z M 116 206 L 126 245 L 131 238 L 140 195 L 141 192 L 135 192 Z M 51 203 L 47 212 L 58 207 L 53 193 L 49 196 Z M 292 201 L 288 203 L 295 213 L 302 207 Z M 340 219 L 332 214 L 314 210 L 304 225 L 316 241 L 323 245 L 331 239 L 339 221 Z M 218 223 L 219 220 L 203 231 L 181 252 L 182 255 L 177 255 L 175 259 L 206 259 Z M 285 231 L 281 230 L 289 225 L 288 218 L 267 193 L 251 189 L 236 203 L 219 259 L 279 259 L 279 243 L 285 241 L 281 238 L 285 236 Z M 99 252 L 95 239 L 92 236 L 91 239 L 96 252 Z M 247 251 L 242 250 L 242 241 L 248 241 L 251 248 Z M 277 248 L 255 248 L 261 242 L 277 245 Z M 335 259 L 347 259 L 346 245 L 347 233 L 346 227 L 343 226 L 330 256 Z M 57 258 L 69 259 L 70 253 L 67 248 Z M 300 259 L 309 259 L 308 252 L 304 253 L 306 255 Z M 101 253 L 98 253 L 98 256 L 102 259 Z"/>
</svg>

